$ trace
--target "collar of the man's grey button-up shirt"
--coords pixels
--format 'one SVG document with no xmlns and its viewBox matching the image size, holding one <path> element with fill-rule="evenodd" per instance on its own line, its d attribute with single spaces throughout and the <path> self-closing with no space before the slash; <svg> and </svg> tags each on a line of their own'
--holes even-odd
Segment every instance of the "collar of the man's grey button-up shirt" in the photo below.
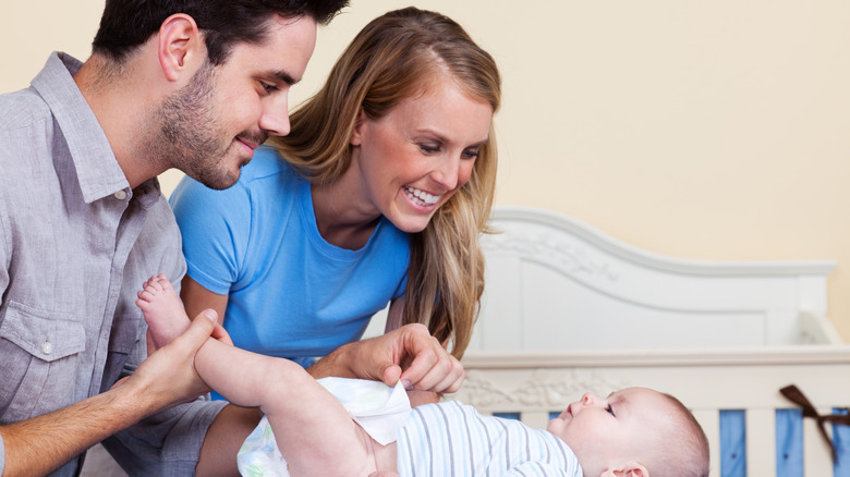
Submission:
<svg viewBox="0 0 850 477">
<path fill-rule="evenodd" d="M 127 189 L 130 183 L 74 82 L 73 75 L 82 65 L 70 54 L 53 52 L 31 84 L 50 108 L 71 152 L 83 198 L 90 204 Z"/>
</svg>

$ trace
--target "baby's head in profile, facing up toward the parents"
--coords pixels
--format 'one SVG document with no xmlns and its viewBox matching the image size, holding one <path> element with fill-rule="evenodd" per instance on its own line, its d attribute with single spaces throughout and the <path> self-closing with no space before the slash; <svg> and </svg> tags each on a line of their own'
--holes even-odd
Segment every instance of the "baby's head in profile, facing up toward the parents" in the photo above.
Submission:
<svg viewBox="0 0 850 477">
<path fill-rule="evenodd" d="M 649 389 L 586 393 L 547 430 L 567 442 L 586 477 L 708 475 L 708 440 L 696 419 L 676 397 Z"/>
</svg>

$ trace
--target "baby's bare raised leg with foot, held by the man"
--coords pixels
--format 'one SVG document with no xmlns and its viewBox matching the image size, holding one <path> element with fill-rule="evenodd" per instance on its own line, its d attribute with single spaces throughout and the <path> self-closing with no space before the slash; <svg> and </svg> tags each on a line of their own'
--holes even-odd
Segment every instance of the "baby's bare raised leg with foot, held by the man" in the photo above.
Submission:
<svg viewBox="0 0 850 477">
<path fill-rule="evenodd" d="M 180 297 L 165 276 L 145 282 L 136 304 L 160 345 L 189 327 Z M 259 406 L 290 475 L 350 476 L 376 470 L 368 438 L 340 402 L 299 365 L 209 340 L 195 355 L 195 369 L 231 403 Z"/>
</svg>

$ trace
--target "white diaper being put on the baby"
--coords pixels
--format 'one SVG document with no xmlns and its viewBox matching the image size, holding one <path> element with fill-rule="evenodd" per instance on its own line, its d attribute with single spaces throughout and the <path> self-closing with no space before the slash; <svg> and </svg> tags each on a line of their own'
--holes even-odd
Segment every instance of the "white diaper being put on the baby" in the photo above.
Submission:
<svg viewBox="0 0 850 477">
<path fill-rule="evenodd" d="M 381 445 L 396 440 L 398 430 L 410 414 L 410 400 L 401 382 L 394 388 L 363 379 L 324 378 L 318 382 Z M 289 477 L 287 461 L 280 454 L 265 416 L 239 450 L 236 465 L 245 477 Z"/>
</svg>

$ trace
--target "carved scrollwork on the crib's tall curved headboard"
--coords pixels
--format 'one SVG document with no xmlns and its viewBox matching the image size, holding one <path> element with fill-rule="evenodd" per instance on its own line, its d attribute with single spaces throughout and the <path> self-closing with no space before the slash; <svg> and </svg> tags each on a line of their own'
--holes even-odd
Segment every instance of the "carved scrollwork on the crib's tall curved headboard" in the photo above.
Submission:
<svg viewBox="0 0 850 477">
<path fill-rule="evenodd" d="M 533 259 L 570 276 L 586 273 L 616 281 L 621 274 L 610 262 L 594 258 L 585 248 L 547 235 L 488 235 L 486 241 L 482 241 L 482 247 Z"/>
</svg>

